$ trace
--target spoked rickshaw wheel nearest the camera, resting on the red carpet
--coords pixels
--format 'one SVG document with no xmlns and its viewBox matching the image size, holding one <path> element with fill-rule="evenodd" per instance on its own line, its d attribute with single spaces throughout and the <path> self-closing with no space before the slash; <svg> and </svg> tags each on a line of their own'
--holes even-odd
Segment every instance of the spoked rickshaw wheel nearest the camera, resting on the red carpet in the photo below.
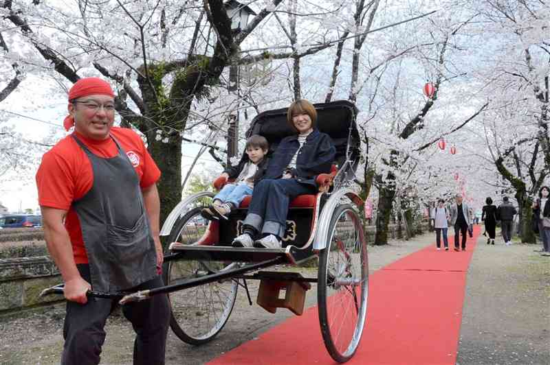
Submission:
<svg viewBox="0 0 550 365">
<path fill-rule="evenodd" d="M 319 322 L 333 360 L 347 362 L 361 340 L 369 294 L 366 239 L 350 204 L 335 209 L 327 237 L 318 273 Z"/>
</svg>

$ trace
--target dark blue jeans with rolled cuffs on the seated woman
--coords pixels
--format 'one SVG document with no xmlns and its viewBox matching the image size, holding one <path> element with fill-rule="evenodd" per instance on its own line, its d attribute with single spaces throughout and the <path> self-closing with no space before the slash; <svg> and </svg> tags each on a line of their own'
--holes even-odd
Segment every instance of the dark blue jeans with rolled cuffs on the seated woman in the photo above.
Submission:
<svg viewBox="0 0 550 365">
<path fill-rule="evenodd" d="M 285 236 L 290 201 L 296 196 L 316 193 L 316 187 L 294 178 L 264 179 L 254 187 L 254 195 L 243 224 L 266 235 Z"/>
</svg>

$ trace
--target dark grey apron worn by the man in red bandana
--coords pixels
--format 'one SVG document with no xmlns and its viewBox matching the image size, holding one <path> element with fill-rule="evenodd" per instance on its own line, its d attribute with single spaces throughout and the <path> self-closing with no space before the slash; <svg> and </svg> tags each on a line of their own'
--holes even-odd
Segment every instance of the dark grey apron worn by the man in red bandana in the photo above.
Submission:
<svg viewBox="0 0 550 365">
<path fill-rule="evenodd" d="M 101 158 L 72 134 L 91 163 L 94 183 L 73 203 L 88 255 L 91 287 L 118 292 L 157 276 L 155 242 L 144 209 L 140 181 L 113 137 L 118 155 Z"/>
</svg>

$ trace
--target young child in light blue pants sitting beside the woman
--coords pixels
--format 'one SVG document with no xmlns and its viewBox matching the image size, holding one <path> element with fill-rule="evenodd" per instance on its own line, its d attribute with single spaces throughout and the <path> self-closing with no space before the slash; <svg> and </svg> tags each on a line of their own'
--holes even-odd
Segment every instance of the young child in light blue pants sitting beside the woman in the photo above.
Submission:
<svg viewBox="0 0 550 365">
<path fill-rule="evenodd" d="M 267 139 L 257 134 L 250 137 L 246 141 L 246 155 L 239 165 L 225 169 L 221 174 L 225 179 L 234 178 L 234 182 L 226 184 L 214 196 L 210 207 L 201 211 L 201 215 L 208 220 L 228 219 L 232 209 L 238 208 L 245 196 L 252 195 L 254 185 L 263 178 L 269 161 L 265 157 L 268 150 Z"/>
</svg>

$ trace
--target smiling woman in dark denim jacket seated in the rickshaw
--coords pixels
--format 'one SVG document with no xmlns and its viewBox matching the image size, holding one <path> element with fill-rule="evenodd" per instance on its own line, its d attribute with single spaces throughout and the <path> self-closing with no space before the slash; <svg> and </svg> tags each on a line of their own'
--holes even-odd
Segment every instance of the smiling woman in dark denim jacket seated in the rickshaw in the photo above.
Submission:
<svg viewBox="0 0 550 365">
<path fill-rule="evenodd" d="M 287 123 L 296 134 L 285 137 L 272 155 L 263 180 L 254 187 L 243 234 L 232 246 L 281 248 L 289 202 L 315 194 L 316 177 L 331 171 L 336 156 L 331 138 L 316 128 L 316 120 L 315 107 L 307 100 L 289 106 Z"/>
</svg>

